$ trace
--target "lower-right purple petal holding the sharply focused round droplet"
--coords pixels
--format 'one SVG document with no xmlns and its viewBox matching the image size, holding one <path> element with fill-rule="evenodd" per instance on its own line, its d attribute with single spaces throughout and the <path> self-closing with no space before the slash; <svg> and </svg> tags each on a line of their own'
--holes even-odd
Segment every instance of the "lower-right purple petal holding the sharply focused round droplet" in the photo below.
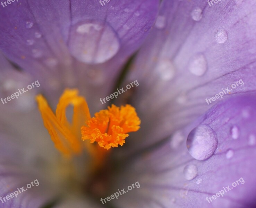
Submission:
<svg viewBox="0 0 256 208">
<path fill-rule="evenodd" d="M 255 105 L 255 94 L 220 102 L 196 122 L 175 132 L 162 147 L 133 158 L 133 165 L 122 170 L 115 188 L 136 181 L 140 188 L 123 194 L 116 205 L 254 208 Z M 214 150 L 207 149 L 214 139 Z"/>
</svg>

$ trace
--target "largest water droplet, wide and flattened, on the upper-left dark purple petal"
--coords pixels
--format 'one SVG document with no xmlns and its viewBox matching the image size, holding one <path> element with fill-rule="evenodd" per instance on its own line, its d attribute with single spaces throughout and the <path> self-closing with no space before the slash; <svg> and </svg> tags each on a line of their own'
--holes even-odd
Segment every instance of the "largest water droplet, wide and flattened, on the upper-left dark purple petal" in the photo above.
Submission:
<svg viewBox="0 0 256 208">
<path fill-rule="evenodd" d="M 102 63 L 111 59 L 120 48 L 116 32 L 107 23 L 87 21 L 72 26 L 69 49 L 79 61 Z"/>
</svg>

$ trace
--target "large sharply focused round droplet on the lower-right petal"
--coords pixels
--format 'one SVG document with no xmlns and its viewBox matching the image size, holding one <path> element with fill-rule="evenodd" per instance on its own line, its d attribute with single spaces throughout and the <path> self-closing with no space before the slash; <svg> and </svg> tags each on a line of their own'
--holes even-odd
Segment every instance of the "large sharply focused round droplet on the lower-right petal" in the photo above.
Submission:
<svg viewBox="0 0 256 208">
<path fill-rule="evenodd" d="M 217 135 L 208 125 L 199 125 L 187 138 L 189 154 L 200 161 L 210 158 L 217 148 Z"/>
</svg>

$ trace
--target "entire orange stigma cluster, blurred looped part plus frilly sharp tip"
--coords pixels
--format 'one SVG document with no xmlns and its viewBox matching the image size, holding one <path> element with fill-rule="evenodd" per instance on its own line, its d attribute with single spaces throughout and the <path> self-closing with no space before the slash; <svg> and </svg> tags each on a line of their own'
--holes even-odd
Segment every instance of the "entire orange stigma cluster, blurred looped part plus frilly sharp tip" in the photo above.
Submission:
<svg viewBox="0 0 256 208">
<path fill-rule="evenodd" d="M 44 126 L 48 130 L 55 147 L 64 155 L 80 154 L 85 146 L 87 151 L 95 158 L 96 163 L 101 163 L 106 150 L 125 143 L 128 132 L 137 131 L 140 120 L 134 107 L 130 105 L 121 108 L 112 105 L 108 110 L 101 110 L 91 118 L 87 102 L 84 97 L 78 96 L 78 90 L 66 89 L 59 99 L 56 114 L 49 107 L 42 95 L 36 96 Z M 66 109 L 74 106 L 72 123 L 66 118 Z M 82 127 L 82 128 L 81 128 Z M 99 146 L 81 140 L 90 139 L 91 143 L 98 142 Z M 84 146 L 83 146 L 84 145 Z M 104 151 L 103 151 L 104 150 Z M 98 159 L 97 159 L 98 158 Z"/>
</svg>

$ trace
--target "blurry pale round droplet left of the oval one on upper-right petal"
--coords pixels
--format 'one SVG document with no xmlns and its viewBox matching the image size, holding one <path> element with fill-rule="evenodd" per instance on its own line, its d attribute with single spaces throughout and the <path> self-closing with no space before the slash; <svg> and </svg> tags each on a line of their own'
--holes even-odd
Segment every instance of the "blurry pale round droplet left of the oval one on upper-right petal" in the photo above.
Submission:
<svg viewBox="0 0 256 208">
<path fill-rule="evenodd" d="M 170 80 L 174 77 L 175 68 L 170 60 L 161 60 L 156 66 L 156 72 L 162 80 Z"/>
</svg>

